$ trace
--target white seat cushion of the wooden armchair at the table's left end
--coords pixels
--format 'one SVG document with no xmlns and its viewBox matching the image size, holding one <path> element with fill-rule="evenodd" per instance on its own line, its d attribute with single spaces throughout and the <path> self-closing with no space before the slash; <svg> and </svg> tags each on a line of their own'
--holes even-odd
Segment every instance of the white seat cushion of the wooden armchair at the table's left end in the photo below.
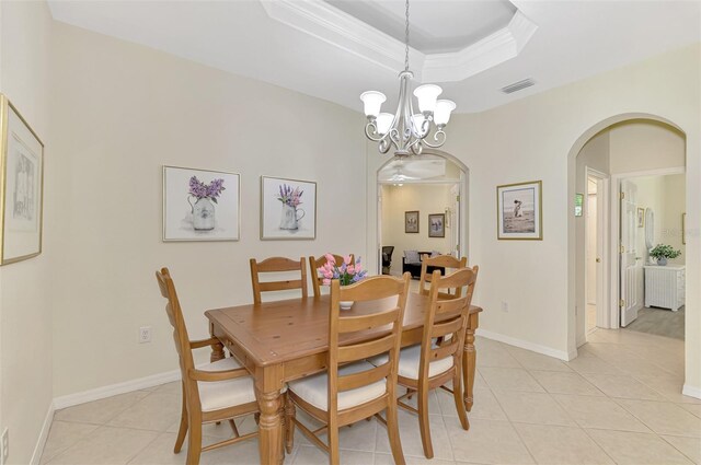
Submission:
<svg viewBox="0 0 701 465">
<path fill-rule="evenodd" d="M 238 368 L 241 368 L 241 365 L 232 357 L 197 367 L 197 369 L 202 371 L 226 371 Z M 251 376 L 227 381 L 198 381 L 197 387 L 199 388 L 202 411 L 219 410 L 220 408 L 255 402 L 253 377 Z"/>
</svg>

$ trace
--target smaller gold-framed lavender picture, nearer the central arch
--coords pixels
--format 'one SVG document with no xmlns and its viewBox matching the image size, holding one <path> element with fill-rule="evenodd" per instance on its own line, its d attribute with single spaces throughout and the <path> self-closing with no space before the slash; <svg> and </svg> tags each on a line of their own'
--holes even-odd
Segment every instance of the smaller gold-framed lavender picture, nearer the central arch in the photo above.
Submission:
<svg viewBox="0 0 701 465">
<path fill-rule="evenodd" d="M 261 239 L 317 237 L 317 183 L 261 176 Z"/>
</svg>

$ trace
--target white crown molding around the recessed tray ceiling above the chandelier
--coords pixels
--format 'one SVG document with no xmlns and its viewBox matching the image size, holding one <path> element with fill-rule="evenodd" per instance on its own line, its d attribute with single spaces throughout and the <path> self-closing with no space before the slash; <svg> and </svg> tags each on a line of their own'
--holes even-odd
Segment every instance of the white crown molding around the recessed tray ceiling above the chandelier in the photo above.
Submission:
<svg viewBox="0 0 701 465">
<path fill-rule="evenodd" d="M 322 0 L 261 0 L 267 15 L 283 24 L 397 72 L 404 68 L 404 44 Z M 520 11 L 509 24 L 462 50 L 423 54 L 410 47 L 418 82 L 456 82 L 509 60 L 538 26 Z"/>
</svg>

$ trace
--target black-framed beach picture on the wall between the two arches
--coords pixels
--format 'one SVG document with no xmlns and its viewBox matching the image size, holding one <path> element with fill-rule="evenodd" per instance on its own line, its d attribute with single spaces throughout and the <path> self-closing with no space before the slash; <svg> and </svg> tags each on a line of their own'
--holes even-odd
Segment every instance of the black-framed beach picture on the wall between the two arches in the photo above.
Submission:
<svg viewBox="0 0 701 465">
<path fill-rule="evenodd" d="M 543 239 L 542 182 L 496 186 L 498 240 Z"/>
</svg>

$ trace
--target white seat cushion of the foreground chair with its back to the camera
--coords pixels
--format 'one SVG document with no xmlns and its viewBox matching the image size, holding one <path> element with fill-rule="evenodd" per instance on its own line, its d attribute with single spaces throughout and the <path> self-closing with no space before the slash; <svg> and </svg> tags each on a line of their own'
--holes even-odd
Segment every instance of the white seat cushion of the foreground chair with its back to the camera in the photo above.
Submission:
<svg viewBox="0 0 701 465">
<path fill-rule="evenodd" d="M 368 362 L 356 362 L 338 369 L 340 374 L 352 374 L 372 370 L 375 367 Z M 301 380 L 288 383 L 288 388 L 304 402 L 322 410 L 329 409 L 329 374 L 319 373 Z M 367 386 L 338 393 L 338 410 L 355 407 L 366 402 L 380 397 L 387 392 L 387 382 L 377 381 Z"/>
</svg>

